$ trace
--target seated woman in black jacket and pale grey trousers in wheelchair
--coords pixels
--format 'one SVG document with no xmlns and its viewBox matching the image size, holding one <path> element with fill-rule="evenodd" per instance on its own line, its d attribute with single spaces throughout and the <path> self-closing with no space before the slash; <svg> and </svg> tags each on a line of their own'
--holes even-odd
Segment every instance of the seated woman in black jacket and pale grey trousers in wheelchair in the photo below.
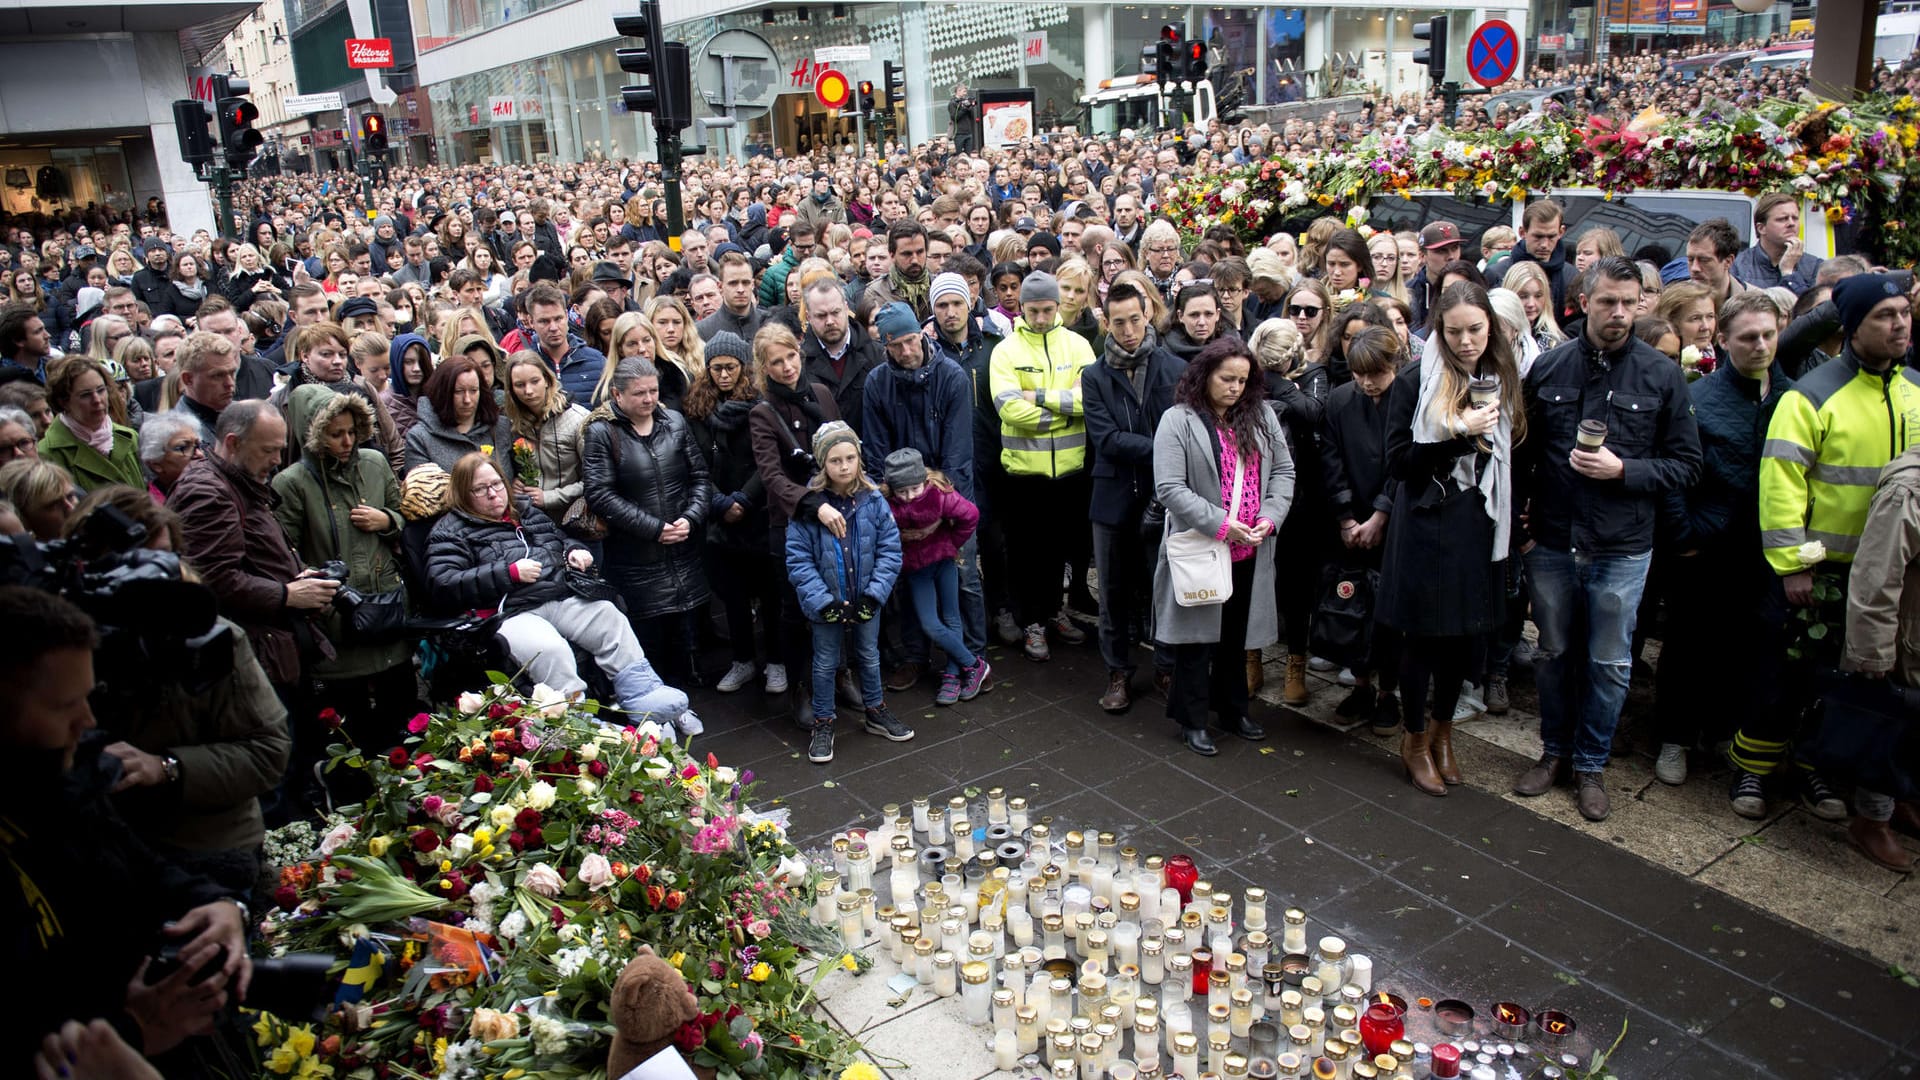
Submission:
<svg viewBox="0 0 1920 1080">
<path fill-rule="evenodd" d="M 499 611 L 499 640 L 536 682 L 584 692 L 574 667 L 580 646 L 612 678 L 614 703 L 634 723 L 655 721 L 684 736 L 703 730 L 687 696 L 653 673 L 626 615 L 568 586 L 568 569 L 593 565 L 584 546 L 526 498 L 511 496 L 484 454 L 461 457 L 447 488 L 453 509 L 434 525 L 426 555 L 436 607 Z"/>
</svg>

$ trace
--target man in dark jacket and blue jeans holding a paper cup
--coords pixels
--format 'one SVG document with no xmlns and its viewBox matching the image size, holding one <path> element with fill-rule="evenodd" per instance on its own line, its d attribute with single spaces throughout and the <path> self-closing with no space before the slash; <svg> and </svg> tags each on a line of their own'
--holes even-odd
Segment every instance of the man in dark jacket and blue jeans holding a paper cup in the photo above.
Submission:
<svg viewBox="0 0 1920 1080">
<path fill-rule="evenodd" d="M 1634 338 L 1640 269 L 1603 258 L 1580 302 L 1586 334 L 1526 375 L 1528 430 L 1513 467 L 1513 538 L 1540 628 L 1544 744 L 1513 790 L 1544 796 L 1571 765 L 1580 815 L 1605 821 L 1601 771 L 1632 675 L 1653 523 L 1667 494 L 1699 477 L 1701 454 L 1686 375 Z"/>
</svg>

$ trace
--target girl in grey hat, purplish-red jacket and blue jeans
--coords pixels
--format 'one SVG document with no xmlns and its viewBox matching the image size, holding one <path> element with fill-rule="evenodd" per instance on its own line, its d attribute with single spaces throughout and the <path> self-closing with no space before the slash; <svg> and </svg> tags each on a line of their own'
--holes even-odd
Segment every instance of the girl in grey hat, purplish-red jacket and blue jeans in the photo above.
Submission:
<svg viewBox="0 0 1920 1080">
<path fill-rule="evenodd" d="M 937 471 L 927 471 L 914 448 L 887 455 L 887 503 L 900 528 L 900 573 L 920 628 L 947 653 L 947 673 L 935 705 L 972 701 L 993 669 L 973 655 L 960 632 L 960 548 L 979 528 L 979 507 Z"/>
</svg>

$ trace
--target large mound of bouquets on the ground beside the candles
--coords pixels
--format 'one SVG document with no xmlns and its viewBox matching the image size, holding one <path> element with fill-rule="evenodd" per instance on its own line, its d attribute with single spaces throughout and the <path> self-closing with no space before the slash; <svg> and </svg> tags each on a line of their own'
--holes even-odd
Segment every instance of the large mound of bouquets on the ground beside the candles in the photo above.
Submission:
<svg viewBox="0 0 1920 1080">
<path fill-rule="evenodd" d="M 324 830 L 276 832 L 273 955 L 340 957 L 319 1028 L 263 1015 L 263 1074 L 605 1076 L 614 978 L 643 947 L 701 1017 L 676 1034 L 722 1078 L 837 1074 L 858 1045 L 810 1009 L 818 974 L 864 969 L 808 919 L 812 880 L 753 773 L 670 730 L 505 676 L 419 715 L 384 751 L 332 748 L 374 794 Z"/>
</svg>

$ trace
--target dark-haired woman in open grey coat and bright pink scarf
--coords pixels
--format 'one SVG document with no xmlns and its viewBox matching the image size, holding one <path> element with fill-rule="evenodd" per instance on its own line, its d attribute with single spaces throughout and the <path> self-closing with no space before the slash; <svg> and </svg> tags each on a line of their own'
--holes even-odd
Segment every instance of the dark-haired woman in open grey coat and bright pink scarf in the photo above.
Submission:
<svg viewBox="0 0 1920 1080">
<path fill-rule="evenodd" d="M 1242 661 L 1279 638 L 1271 540 L 1294 498 L 1294 459 L 1256 369 L 1240 338 L 1210 342 L 1181 375 L 1154 432 L 1154 498 L 1167 509 L 1154 565 L 1154 638 L 1173 650 L 1167 717 L 1179 721 L 1187 749 L 1206 757 L 1219 753 L 1206 730 L 1208 707 L 1240 738 L 1267 736 L 1246 715 Z M 1236 467 L 1240 498 L 1229 515 Z M 1227 544 L 1233 594 L 1225 603 L 1175 600 L 1165 538 L 1187 530 Z"/>
</svg>

